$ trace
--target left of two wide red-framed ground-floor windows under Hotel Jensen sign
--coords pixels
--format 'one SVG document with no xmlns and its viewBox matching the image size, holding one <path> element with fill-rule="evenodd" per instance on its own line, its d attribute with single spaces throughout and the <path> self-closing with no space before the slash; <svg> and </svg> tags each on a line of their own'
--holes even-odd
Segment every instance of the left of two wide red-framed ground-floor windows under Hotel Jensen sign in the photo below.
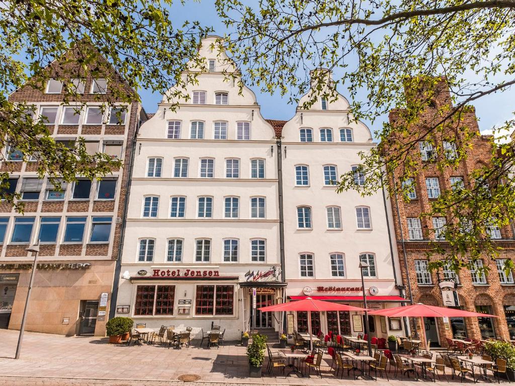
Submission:
<svg viewBox="0 0 515 386">
<path fill-rule="evenodd" d="M 173 315 L 175 286 L 138 286 L 134 315 Z"/>
</svg>

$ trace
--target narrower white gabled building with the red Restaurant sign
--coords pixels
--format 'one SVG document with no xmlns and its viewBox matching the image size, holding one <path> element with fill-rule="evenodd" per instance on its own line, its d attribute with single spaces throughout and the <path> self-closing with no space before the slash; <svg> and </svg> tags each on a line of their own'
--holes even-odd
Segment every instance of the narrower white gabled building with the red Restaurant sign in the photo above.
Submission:
<svg viewBox="0 0 515 386">
<path fill-rule="evenodd" d="M 343 96 L 333 101 L 320 98 L 305 110 L 307 99 L 306 95 L 300 100 L 295 116 L 282 129 L 287 297 L 299 300 L 309 295 L 362 307 L 362 259 L 370 264 L 364 271 L 368 308 L 399 306 L 396 284 L 401 283 L 395 275 L 399 280 L 401 275 L 389 201 L 383 200 L 381 191 L 366 197 L 356 190 L 337 194 L 332 184 L 360 163 L 359 152 L 375 146 L 371 132 L 352 120 Z M 356 174 L 355 180 L 360 183 L 363 176 Z M 364 329 L 360 320 L 348 312 L 312 314 L 315 333 L 357 334 Z M 384 318 L 371 317 L 370 322 L 372 335 L 387 337 L 390 328 Z M 394 335 L 402 332 L 395 330 L 398 322 L 392 323 Z M 297 313 L 294 326 L 306 331 L 307 314 Z"/>
</svg>

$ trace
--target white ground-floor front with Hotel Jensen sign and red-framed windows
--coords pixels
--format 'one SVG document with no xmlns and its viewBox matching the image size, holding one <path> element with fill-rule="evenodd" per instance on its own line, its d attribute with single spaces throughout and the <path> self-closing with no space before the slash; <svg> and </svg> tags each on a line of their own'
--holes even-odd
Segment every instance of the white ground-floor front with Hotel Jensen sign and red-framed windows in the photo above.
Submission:
<svg viewBox="0 0 515 386">
<path fill-rule="evenodd" d="M 258 308 L 280 303 L 285 283 L 276 267 L 260 268 L 122 265 L 116 316 L 155 329 L 192 327 L 194 339 L 213 325 L 225 330 L 225 340 L 239 340 L 254 326 L 279 331 L 279 320 Z"/>
</svg>

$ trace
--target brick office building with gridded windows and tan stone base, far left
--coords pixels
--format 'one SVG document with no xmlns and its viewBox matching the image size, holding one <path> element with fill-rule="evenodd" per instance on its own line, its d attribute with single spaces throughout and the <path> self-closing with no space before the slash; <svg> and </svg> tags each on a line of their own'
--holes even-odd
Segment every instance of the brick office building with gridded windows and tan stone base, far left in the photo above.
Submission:
<svg viewBox="0 0 515 386">
<path fill-rule="evenodd" d="M 31 79 L 9 99 L 33 104 L 56 141 L 73 143 L 83 137 L 90 154 L 108 153 L 120 158 L 123 167 L 101 181 L 77 176 L 77 182 L 63 183 L 57 191 L 47 178 L 38 178 L 37 160 L 24 162 L 18 149 L 2 150 L 0 170 L 10 172 L 10 189 L 20 192 L 25 211 L 16 213 L 10 204 L 0 203 L 0 328 L 20 327 L 33 261 L 26 248 L 39 244 L 26 329 L 105 335 L 133 138 L 146 114 L 136 98 L 131 103 L 119 98 L 120 93 L 135 94 L 107 61 L 95 65 L 110 73 L 109 82 L 84 77 L 76 56 L 69 51 L 46 68 L 52 79 L 43 90 L 33 87 Z M 63 102 L 58 79 L 72 81 L 78 100 Z M 110 106 L 101 109 L 106 101 Z"/>
</svg>

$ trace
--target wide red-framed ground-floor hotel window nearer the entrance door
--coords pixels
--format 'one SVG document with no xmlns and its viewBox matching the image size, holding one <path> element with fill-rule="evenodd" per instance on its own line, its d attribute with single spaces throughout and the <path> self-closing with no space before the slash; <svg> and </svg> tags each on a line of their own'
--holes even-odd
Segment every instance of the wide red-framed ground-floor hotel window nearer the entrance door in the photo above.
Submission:
<svg viewBox="0 0 515 386">
<path fill-rule="evenodd" d="M 234 286 L 197 286 L 195 293 L 195 314 L 234 314 Z"/>
</svg>

